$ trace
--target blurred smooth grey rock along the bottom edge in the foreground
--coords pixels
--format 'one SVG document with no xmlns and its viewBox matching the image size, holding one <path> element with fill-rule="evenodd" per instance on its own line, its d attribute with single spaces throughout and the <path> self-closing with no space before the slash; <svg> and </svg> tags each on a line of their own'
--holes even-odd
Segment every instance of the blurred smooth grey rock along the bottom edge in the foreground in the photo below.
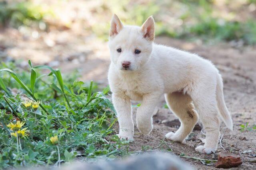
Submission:
<svg viewBox="0 0 256 170">
<path fill-rule="evenodd" d="M 57 170 L 59 168 L 52 168 Z M 97 163 L 73 162 L 61 170 L 193 170 L 178 158 L 163 152 L 144 153 L 123 160 L 99 161 Z M 43 168 L 42 170 L 47 170 Z"/>
</svg>

